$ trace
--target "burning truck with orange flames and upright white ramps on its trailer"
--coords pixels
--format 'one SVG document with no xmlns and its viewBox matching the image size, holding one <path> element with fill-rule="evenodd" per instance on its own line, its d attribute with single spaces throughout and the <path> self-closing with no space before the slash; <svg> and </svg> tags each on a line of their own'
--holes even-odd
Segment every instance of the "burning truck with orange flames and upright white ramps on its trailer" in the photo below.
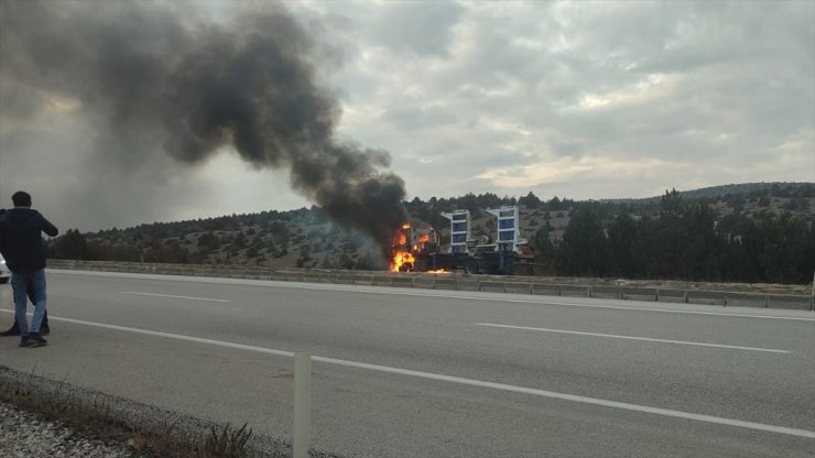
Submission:
<svg viewBox="0 0 815 458">
<path fill-rule="evenodd" d="M 450 220 L 450 242 L 442 250 L 441 237 L 426 222 L 405 222 L 393 237 L 391 272 L 453 272 L 471 274 L 533 275 L 542 264 L 520 237 L 518 207 L 487 210 L 498 219 L 495 240 L 474 239 L 469 210 L 443 212 Z"/>
</svg>

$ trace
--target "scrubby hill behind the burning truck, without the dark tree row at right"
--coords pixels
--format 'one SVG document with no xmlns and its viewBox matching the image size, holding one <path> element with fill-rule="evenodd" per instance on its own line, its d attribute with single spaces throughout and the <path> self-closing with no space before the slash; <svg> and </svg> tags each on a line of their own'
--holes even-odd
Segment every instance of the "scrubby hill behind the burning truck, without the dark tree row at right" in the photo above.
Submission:
<svg viewBox="0 0 815 458">
<path fill-rule="evenodd" d="M 404 206 L 411 219 L 430 222 L 439 229 L 444 244 L 449 240 L 449 221 L 439 215 L 442 211 L 468 209 L 472 215 L 474 236 L 495 237 L 495 219 L 485 210 L 518 205 L 522 237 L 534 244 L 539 260 L 550 263 L 552 273 L 565 273 L 558 272 L 555 251 L 563 244 L 576 214 L 595 215 L 599 229 L 607 237 L 615 218 L 621 215 L 633 221 L 650 221 L 659 219 L 666 205 L 676 203 L 708 209 L 714 228 L 721 228 L 719 225 L 724 223 L 729 228 L 728 237 L 732 236 L 730 228 L 752 223 L 745 221 L 784 218 L 803 221 L 809 232 L 802 237 L 812 237 L 815 183 L 735 184 L 671 192 L 646 199 L 584 201 L 558 197 L 543 201 L 533 193 L 520 198 L 467 194 L 454 198 L 433 197 L 428 201 L 415 198 Z M 381 246 L 387 243 L 337 226 L 322 209 L 313 206 L 88 233 L 69 230 L 52 240 L 50 247 L 51 255 L 62 259 L 377 270 L 387 268 L 380 254 Z"/>
</svg>

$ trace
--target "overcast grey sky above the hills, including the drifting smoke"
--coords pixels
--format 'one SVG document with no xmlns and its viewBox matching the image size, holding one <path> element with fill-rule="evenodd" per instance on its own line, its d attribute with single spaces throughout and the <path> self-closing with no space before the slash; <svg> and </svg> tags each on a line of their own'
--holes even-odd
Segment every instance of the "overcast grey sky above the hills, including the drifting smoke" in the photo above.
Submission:
<svg viewBox="0 0 815 458">
<path fill-rule="evenodd" d="M 25 189 L 88 231 L 332 206 L 374 182 L 396 200 L 815 182 L 812 1 L 122 4 L 0 2 L 0 206 Z M 275 46 L 233 58 L 252 33 Z M 296 72 L 256 81 L 280 62 Z M 240 119 L 200 116 L 200 88 L 235 75 L 270 112 L 257 153 Z M 330 186 L 304 185 L 315 163 Z"/>
</svg>

